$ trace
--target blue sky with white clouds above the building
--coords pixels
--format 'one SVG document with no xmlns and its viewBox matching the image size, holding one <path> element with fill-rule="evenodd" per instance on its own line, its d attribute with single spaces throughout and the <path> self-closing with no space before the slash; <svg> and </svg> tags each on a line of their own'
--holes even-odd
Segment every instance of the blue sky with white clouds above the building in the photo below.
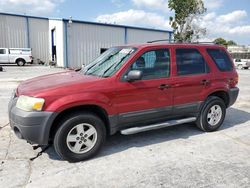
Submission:
<svg viewBox="0 0 250 188">
<path fill-rule="evenodd" d="M 0 0 L 0 12 L 126 24 L 171 30 L 168 0 Z M 204 0 L 207 13 L 199 25 L 202 40 L 217 37 L 250 44 L 249 0 Z"/>
</svg>

